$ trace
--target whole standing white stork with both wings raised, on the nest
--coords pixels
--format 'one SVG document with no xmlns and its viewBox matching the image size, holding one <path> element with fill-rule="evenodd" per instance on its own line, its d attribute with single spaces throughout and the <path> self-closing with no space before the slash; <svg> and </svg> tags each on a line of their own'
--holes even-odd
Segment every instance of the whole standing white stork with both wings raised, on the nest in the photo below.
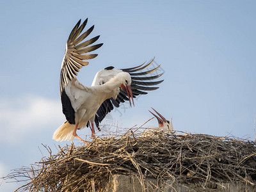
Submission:
<svg viewBox="0 0 256 192">
<path fill-rule="evenodd" d="M 99 129 L 99 123 L 113 109 L 113 105 L 118 107 L 120 102 L 125 100 L 129 100 L 130 106 L 131 101 L 134 105 L 133 98 L 136 95 L 147 94 L 147 92 L 141 90 L 156 90 L 158 87 L 148 86 L 159 84 L 163 81 L 147 82 L 147 80 L 156 79 L 162 74 L 150 77 L 144 76 L 145 74 L 155 72 L 160 65 L 146 72 L 132 73 L 147 68 L 152 64 L 152 60 L 145 66 L 143 66 L 145 64 L 143 63 L 138 67 L 121 70 L 107 67 L 96 74 L 92 86 L 84 86 L 79 83 L 75 76 L 77 76 L 79 68 L 88 65 L 88 61 L 84 60 L 90 60 L 97 56 L 97 54 L 85 53 L 95 51 L 103 45 L 92 45 L 99 39 L 99 36 L 83 42 L 84 38 L 90 35 L 94 27 L 92 26 L 81 35 L 87 20 L 84 20 L 83 24 L 80 25 L 80 19 L 68 36 L 60 74 L 62 111 L 67 121 L 54 132 L 52 138 L 56 141 L 73 140 L 76 137 L 87 143 L 77 136 L 77 129 L 82 129 L 91 122 L 92 137 L 94 137 L 94 122 Z M 139 84 L 145 86 L 140 86 Z"/>
</svg>

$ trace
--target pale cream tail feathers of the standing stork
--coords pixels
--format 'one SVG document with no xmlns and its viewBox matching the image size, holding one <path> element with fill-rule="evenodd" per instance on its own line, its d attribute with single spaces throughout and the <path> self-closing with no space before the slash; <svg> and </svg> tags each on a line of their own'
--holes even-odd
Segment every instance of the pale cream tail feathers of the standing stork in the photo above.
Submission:
<svg viewBox="0 0 256 192">
<path fill-rule="evenodd" d="M 73 132 L 76 129 L 76 125 L 65 122 L 62 124 L 52 135 L 52 139 L 56 141 L 74 140 Z"/>
</svg>

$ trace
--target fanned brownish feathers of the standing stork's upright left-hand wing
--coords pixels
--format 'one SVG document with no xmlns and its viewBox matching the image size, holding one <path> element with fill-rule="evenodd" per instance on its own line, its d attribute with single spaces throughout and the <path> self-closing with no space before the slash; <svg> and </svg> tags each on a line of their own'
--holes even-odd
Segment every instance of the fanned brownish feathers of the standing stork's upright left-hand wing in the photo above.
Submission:
<svg viewBox="0 0 256 192">
<path fill-rule="evenodd" d="M 99 49 L 103 44 L 92 45 L 98 40 L 100 36 L 95 36 L 90 40 L 83 40 L 92 33 L 94 26 L 85 31 L 82 31 L 87 24 L 88 19 L 84 20 L 81 24 L 81 19 L 77 22 L 76 26 L 72 29 L 70 35 L 68 36 L 65 56 L 61 64 L 60 72 L 60 93 L 63 92 L 64 85 L 68 85 L 68 80 L 72 80 L 74 76 L 77 76 L 79 69 L 85 65 L 88 65 L 88 61 L 95 58 L 98 54 L 86 54 L 88 52 L 95 51 Z M 81 25 L 80 25 L 81 24 Z"/>
</svg>

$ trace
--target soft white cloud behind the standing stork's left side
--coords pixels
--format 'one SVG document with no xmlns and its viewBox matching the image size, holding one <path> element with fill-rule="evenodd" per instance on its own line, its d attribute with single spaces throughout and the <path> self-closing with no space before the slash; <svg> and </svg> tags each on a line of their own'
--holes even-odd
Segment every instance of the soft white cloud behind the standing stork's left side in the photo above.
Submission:
<svg viewBox="0 0 256 192">
<path fill-rule="evenodd" d="M 0 99 L 0 141 L 15 141 L 38 127 L 65 120 L 60 100 L 29 95 L 18 99 Z"/>
</svg>

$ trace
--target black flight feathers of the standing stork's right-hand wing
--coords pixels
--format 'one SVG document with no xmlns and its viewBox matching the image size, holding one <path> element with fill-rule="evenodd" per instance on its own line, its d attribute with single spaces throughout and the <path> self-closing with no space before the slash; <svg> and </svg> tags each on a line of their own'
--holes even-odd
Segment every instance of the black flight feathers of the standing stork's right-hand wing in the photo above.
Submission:
<svg viewBox="0 0 256 192">
<path fill-rule="evenodd" d="M 105 70 L 106 70 L 106 73 L 112 74 L 112 76 L 116 75 L 118 72 L 122 72 L 122 71 L 128 72 L 131 75 L 131 79 L 132 79 L 132 83 L 131 83 L 132 95 L 134 98 L 136 98 L 139 95 L 147 94 L 148 91 L 157 90 L 159 87 L 156 87 L 154 85 L 157 85 L 164 81 L 164 80 L 154 81 L 154 79 L 157 79 L 158 77 L 162 76 L 163 72 L 159 74 L 159 72 L 157 71 L 159 70 L 160 65 L 152 69 L 148 69 L 149 67 L 152 66 L 153 61 L 154 59 L 147 64 L 143 63 L 142 65 L 139 65 L 137 67 L 132 67 L 132 68 L 122 68 L 121 70 L 118 70 L 118 69 L 113 69 L 113 67 L 107 67 L 105 68 Z M 145 71 L 143 71 L 144 69 Z M 113 72 L 108 72 L 108 70 L 109 71 L 112 70 Z M 95 77 L 95 78 L 100 79 L 99 77 Z M 100 108 L 98 109 L 95 115 L 94 122 L 97 125 L 98 129 L 99 129 L 100 122 L 102 122 L 105 116 L 110 111 L 112 111 L 114 107 L 118 108 L 120 106 L 120 103 L 125 102 L 125 100 L 129 100 L 129 99 L 127 97 L 127 92 L 123 91 L 122 89 L 120 89 L 120 93 L 118 94 L 116 99 L 110 98 L 110 99 L 104 100 L 104 102 L 101 104 Z"/>
</svg>

